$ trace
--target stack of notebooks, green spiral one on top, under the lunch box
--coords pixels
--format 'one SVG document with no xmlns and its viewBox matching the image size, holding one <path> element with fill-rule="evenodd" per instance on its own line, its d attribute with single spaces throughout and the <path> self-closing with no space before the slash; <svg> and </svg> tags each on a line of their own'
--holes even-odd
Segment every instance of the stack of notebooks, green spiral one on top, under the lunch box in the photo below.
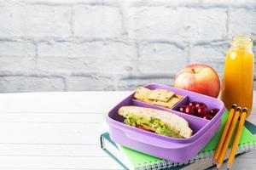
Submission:
<svg viewBox="0 0 256 170">
<path fill-rule="evenodd" d="M 102 150 L 105 150 L 109 156 L 113 157 L 113 159 L 119 162 L 119 164 L 125 169 L 207 169 L 208 167 L 212 167 L 212 155 L 218 145 L 218 139 L 223 131 L 228 114 L 228 111 L 224 113 L 218 133 L 216 133 L 212 140 L 194 158 L 185 163 L 166 161 L 154 156 L 148 156 L 136 150 L 131 150 L 119 144 L 115 144 L 110 139 L 108 132 L 103 133 L 101 136 Z M 102 123 L 108 129 L 105 122 L 105 115 L 103 115 Z M 240 156 L 241 154 L 256 148 L 256 137 L 253 135 L 255 133 L 256 127 L 252 123 L 246 122 L 245 127 L 242 129 L 241 139 L 238 149 L 236 150 L 236 156 Z M 230 142 L 230 146 L 232 144 L 233 141 Z"/>
</svg>

